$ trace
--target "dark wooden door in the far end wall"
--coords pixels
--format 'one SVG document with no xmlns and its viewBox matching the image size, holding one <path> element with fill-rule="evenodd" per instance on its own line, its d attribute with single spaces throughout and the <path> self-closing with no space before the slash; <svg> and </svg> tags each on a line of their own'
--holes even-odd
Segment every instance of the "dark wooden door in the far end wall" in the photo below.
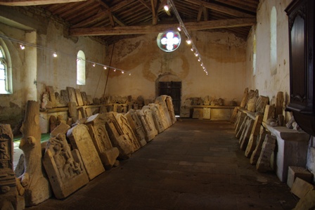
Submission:
<svg viewBox="0 0 315 210">
<path fill-rule="evenodd" d="M 159 96 L 172 97 L 174 112 L 179 115 L 181 110 L 181 81 L 159 81 Z"/>
</svg>

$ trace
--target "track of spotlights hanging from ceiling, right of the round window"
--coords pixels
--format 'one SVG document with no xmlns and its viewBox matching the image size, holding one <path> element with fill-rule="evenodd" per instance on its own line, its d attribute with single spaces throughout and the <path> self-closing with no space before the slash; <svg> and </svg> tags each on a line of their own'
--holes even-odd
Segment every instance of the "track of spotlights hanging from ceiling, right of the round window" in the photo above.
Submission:
<svg viewBox="0 0 315 210">
<path fill-rule="evenodd" d="M 203 64 L 203 60 L 201 59 L 201 55 L 197 49 L 197 47 L 195 46 L 195 44 L 193 43 L 193 40 L 191 39 L 191 35 L 189 35 L 183 20 L 181 20 L 181 16 L 179 16 L 179 12 L 176 10 L 176 7 L 174 5 L 173 0 L 167 0 L 167 6 L 165 6 L 165 11 L 169 10 L 169 6 L 172 7 L 172 10 L 174 12 L 174 15 L 176 16 L 177 20 L 179 21 L 179 27 L 177 28 L 179 31 L 183 30 L 184 34 L 186 35 L 186 42 L 187 44 L 191 45 L 191 51 L 193 51 L 193 53 L 195 54 L 195 57 L 198 57 L 198 61 L 200 62 L 200 66 L 203 67 L 203 71 L 205 72 L 205 74 L 208 74 L 207 72 L 207 68 L 205 67 L 205 65 Z"/>
</svg>

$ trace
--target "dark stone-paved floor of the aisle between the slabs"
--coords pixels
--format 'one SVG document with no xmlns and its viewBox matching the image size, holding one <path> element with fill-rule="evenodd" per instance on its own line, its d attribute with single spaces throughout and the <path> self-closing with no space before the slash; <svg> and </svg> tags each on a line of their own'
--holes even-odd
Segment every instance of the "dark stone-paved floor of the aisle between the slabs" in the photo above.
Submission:
<svg viewBox="0 0 315 210">
<path fill-rule="evenodd" d="M 28 209 L 293 209 L 275 173 L 258 173 L 229 122 L 179 119 L 84 188 Z"/>
</svg>

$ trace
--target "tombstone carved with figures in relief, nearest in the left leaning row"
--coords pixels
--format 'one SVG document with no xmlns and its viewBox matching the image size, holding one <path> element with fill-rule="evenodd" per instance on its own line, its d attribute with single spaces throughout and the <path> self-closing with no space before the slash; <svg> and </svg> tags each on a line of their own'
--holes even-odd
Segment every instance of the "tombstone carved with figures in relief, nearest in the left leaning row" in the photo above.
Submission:
<svg viewBox="0 0 315 210">
<path fill-rule="evenodd" d="M 65 133 L 49 139 L 43 164 L 57 199 L 68 197 L 89 183 L 79 151 L 70 150 Z"/>
</svg>

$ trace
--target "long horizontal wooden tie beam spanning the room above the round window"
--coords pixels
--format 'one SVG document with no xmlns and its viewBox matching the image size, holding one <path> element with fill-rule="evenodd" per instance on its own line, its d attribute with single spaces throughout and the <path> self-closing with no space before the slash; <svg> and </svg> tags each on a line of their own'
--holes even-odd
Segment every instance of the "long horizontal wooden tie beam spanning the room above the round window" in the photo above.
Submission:
<svg viewBox="0 0 315 210">
<path fill-rule="evenodd" d="M 210 20 L 203 22 L 186 22 L 185 27 L 188 30 L 196 31 L 203 29 L 219 29 L 230 27 L 252 26 L 256 18 L 236 18 L 227 20 Z M 94 27 L 94 28 L 74 28 L 70 29 L 72 36 L 106 36 L 122 34 L 149 34 L 152 32 L 164 32 L 167 30 L 176 30 L 178 23 L 167 25 L 143 25 L 127 27 Z"/>
</svg>

